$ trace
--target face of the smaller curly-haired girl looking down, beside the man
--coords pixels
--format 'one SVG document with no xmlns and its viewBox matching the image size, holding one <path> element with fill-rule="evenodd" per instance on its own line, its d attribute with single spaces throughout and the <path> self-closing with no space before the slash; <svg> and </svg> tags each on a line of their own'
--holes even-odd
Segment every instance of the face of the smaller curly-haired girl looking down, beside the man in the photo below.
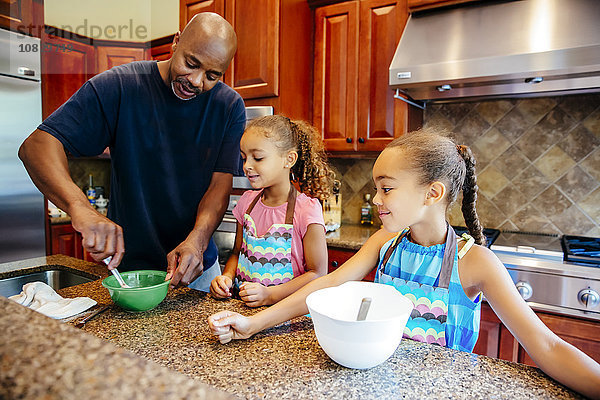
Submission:
<svg viewBox="0 0 600 400">
<path fill-rule="evenodd" d="M 266 137 L 262 129 L 250 128 L 242 136 L 240 150 L 244 160 L 244 173 L 255 189 L 289 181 L 287 154 L 277 148 L 275 143 L 275 139 Z"/>
</svg>

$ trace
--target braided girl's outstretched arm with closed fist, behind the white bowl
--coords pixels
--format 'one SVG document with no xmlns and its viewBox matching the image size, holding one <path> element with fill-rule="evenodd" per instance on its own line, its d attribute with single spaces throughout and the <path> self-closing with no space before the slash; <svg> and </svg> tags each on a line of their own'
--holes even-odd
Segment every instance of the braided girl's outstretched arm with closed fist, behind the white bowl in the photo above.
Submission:
<svg viewBox="0 0 600 400">
<path fill-rule="evenodd" d="M 361 249 L 331 274 L 309 282 L 295 293 L 284 298 L 275 305 L 250 317 L 244 317 L 231 311 L 221 311 L 208 318 L 208 324 L 221 343 L 232 339 L 246 339 L 291 318 L 308 312 L 306 297 L 312 292 L 326 287 L 338 286 L 344 282 L 363 279 L 379 259 L 381 246 L 394 237 L 383 229 L 371 236 Z"/>
</svg>

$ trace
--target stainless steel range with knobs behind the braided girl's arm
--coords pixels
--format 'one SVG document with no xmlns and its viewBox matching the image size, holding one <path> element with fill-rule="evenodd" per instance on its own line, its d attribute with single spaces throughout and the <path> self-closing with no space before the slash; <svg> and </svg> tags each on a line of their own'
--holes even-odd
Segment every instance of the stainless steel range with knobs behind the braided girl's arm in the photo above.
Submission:
<svg viewBox="0 0 600 400">
<path fill-rule="evenodd" d="M 502 232 L 491 249 L 532 309 L 600 320 L 600 253 L 573 238 Z"/>
</svg>

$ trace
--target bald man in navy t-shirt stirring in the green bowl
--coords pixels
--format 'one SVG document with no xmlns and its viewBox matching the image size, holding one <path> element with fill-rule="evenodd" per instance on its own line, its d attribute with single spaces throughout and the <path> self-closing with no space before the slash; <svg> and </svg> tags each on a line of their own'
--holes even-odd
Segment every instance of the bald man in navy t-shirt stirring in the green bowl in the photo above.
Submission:
<svg viewBox="0 0 600 400">
<path fill-rule="evenodd" d="M 167 269 L 171 285 L 208 291 L 220 274 L 211 236 L 239 170 L 246 116 L 219 78 L 237 48 L 231 25 L 196 15 L 166 61 L 137 61 L 87 81 L 21 145 L 34 183 L 65 210 L 83 247 L 108 268 Z M 69 175 L 75 157 L 110 148 L 108 218 Z"/>
</svg>

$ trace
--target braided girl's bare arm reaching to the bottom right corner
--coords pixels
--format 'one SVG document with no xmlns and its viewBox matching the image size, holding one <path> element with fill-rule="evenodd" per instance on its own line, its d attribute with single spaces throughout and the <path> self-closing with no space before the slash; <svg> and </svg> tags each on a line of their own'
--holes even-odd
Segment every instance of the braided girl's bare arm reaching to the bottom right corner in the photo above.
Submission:
<svg viewBox="0 0 600 400">
<path fill-rule="evenodd" d="M 463 286 L 471 286 L 472 293 L 483 292 L 496 315 L 542 371 L 585 396 L 600 398 L 600 365 L 544 325 L 491 250 L 475 246 L 462 263 Z M 469 295 L 469 289 L 465 291 Z"/>
</svg>

